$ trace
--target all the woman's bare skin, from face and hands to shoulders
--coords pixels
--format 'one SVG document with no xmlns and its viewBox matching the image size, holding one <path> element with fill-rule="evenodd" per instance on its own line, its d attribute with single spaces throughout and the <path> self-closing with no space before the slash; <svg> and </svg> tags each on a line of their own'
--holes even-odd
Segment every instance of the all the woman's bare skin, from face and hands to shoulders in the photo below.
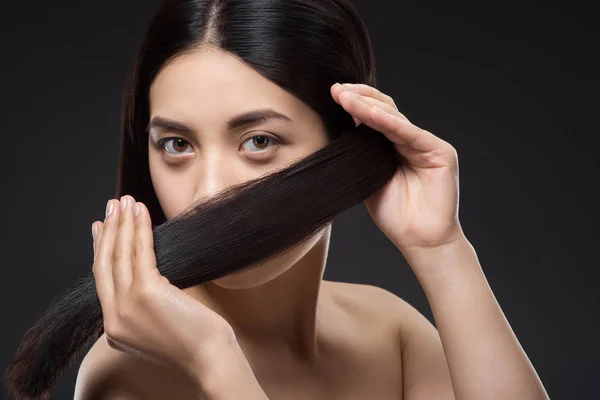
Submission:
<svg viewBox="0 0 600 400">
<path fill-rule="evenodd" d="M 154 307 L 126 304 L 128 312 L 107 314 L 119 316 L 110 329 L 117 334 L 111 335 L 134 351 L 115 350 L 108 336 L 98 340 L 80 368 L 76 399 L 198 399 L 201 388 L 212 399 L 548 399 L 460 227 L 456 150 L 408 121 L 391 97 L 373 87 L 335 84 L 331 95 L 357 122 L 386 135 L 406 161 L 365 205 L 418 278 L 439 332 L 385 290 L 324 281 L 329 225 L 283 256 L 183 292 L 154 279 L 163 290 L 142 292 L 152 294 L 144 303 Z M 327 143 L 310 107 L 220 50 L 187 54 L 160 71 L 150 90 L 150 122 L 150 173 L 167 218 Z M 120 201 L 137 201 L 127 197 Z M 94 270 L 99 278 L 116 271 L 110 276 L 122 287 L 129 271 L 150 273 L 156 266 L 154 259 L 138 257 L 132 268 L 126 250 L 133 236 L 131 211 L 123 208 L 125 223 L 116 236 L 116 210 L 105 220 L 106 236 L 97 223 L 96 237 L 106 240 Z M 256 212 L 269 217 L 268 210 Z M 136 224 L 136 238 L 151 237 L 144 215 L 139 213 L 138 222 L 146 219 Z M 113 241 L 121 246 L 118 263 Z M 142 255 L 152 254 L 149 241 L 138 244 Z M 101 292 L 108 287 L 100 285 Z M 163 292 L 186 307 L 169 309 L 179 303 L 155 294 Z M 107 304 L 114 300 L 111 293 L 103 298 Z M 148 322 L 156 316 L 160 322 Z M 219 338 L 225 332 L 231 343 L 232 330 L 219 329 L 224 324 L 237 342 L 217 347 L 220 357 L 208 357 L 211 374 L 206 362 L 197 362 L 198 353 L 207 353 L 188 342 L 210 331 Z M 135 359 L 136 350 L 157 353 L 171 365 L 184 359 L 184 371 Z"/>
</svg>

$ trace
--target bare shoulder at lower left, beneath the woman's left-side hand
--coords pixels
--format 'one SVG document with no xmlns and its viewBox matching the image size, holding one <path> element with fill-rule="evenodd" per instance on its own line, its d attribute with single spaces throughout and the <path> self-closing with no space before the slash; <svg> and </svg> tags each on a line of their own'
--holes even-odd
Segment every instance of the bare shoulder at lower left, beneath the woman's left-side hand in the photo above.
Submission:
<svg viewBox="0 0 600 400">
<path fill-rule="evenodd" d="M 84 357 L 74 400 L 198 399 L 183 374 L 110 347 L 103 334 Z"/>
</svg>

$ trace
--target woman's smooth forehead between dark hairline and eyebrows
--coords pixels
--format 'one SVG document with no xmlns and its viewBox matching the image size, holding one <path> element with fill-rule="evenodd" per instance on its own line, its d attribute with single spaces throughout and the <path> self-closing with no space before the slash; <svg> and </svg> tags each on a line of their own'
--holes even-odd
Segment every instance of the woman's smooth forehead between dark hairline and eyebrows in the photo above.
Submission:
<svg viewBox="0 0 600 400">
<path fill-rule="evenodd" d="M 273 108 L 295 121 L 316 118 L 300 99 L 219 49 L 196 50 L 175 58 L 150 87 L 151 116 L 222 120 L 258 108 Z"/>
</svg>

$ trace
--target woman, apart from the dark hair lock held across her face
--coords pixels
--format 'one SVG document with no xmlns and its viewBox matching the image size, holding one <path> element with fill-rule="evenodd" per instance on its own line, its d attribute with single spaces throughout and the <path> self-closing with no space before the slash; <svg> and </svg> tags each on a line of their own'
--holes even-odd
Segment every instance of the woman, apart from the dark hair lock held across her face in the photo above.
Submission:
<svg viewBox="0 0 600 400">
<path fill-rule="evenodd" d="M 125 127 L 124 196 L 92 226 L 104 334 L 77 399 L 547 398 L 461 229 L 456 151 L 374 87 L 349 4 L 171 1 L 140 54 L 130 85 L 148 97 L 130 88 L 125 123 L 148 129 Z M 160 274 L 153 225 L 324 148 L 350 117 L 404 161 L 365 205 L 439 333 L 383 289 L 323 280 L 331 224 L 202 285 Z"/>
</svg>

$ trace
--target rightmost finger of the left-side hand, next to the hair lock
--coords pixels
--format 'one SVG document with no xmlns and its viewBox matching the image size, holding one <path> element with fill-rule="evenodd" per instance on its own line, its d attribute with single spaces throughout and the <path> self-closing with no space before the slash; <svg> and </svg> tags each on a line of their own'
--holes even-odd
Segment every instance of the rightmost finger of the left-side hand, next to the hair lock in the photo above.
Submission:
<svg viewBox="0 0 600 400">
<path fill-rule="evenodd" d="M 133 244 L 133 279 L 146 279 L 151 274 L 159 274 L 154 253 L 154 234 L 150 212 L 142 202 L 136 203 L 138 215 L 135 219 Z"/>
</svg>

